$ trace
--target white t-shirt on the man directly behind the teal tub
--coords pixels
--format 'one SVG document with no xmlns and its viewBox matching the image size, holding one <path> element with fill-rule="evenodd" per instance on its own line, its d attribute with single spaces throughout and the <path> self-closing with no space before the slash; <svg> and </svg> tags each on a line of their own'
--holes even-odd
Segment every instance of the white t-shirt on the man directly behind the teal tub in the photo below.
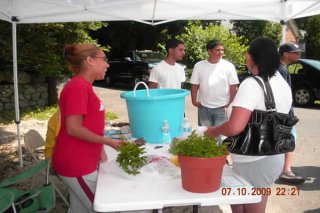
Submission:
<svg viewBox="0 0 320 213">
<path fill-rule="evenodd" d="M 149 81 L 158 84 L 158 88 L 181 89 L 181 83 L 186 81 L 184 68 L 175 63 L 170 65 L 164 60 L 152 68 Z"/>
</svg>

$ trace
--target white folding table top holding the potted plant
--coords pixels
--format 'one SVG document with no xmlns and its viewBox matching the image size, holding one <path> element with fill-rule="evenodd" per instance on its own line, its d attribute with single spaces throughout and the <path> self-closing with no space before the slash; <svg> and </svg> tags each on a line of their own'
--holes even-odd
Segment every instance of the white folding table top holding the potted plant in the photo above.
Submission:
<svg viewBox="0 0 320 213">
<path fill-rule="evenodd" d="M 151 145 L 147 146 L 146 151 L 148 155 L 169 155 L 166 147 L 154 149 L 154 145 Z M 220 189 L 212 193 L 192 193 L 184 190 L 179 168 L 175 168 L 178 176 L 148 173 L 147 170 L 132 176 L 126 174 L 115 159 L 109 158 L 108 162 L 100 165 L 94 209 L 99 212 L 114 212 L 162 209 L 168 206 L 257 203 L 261 200 L 260 196 L 251 195 L 251 185 L 228 165 L 224 166 Z M 231 190 L 228 191 L 227 187 Z M 239 191 L 244 188 L 246 194 L 239 195 Z"/>
</svg>

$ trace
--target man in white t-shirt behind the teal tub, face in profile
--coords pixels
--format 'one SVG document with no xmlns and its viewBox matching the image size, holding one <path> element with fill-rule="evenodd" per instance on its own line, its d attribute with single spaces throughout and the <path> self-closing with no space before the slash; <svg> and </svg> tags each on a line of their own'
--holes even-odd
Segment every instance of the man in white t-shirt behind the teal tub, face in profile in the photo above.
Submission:
<svg viewBox="0 0 320 213">
<path fill-rule="evenodd" d="M 185 48 L 182 41 L 170 39 L 166 43 L 167 56 L 151 70 L 149 88 L 180 89 L 185 82 L 184 68 L 176 63 L 182 60 Z"/>
</svg>

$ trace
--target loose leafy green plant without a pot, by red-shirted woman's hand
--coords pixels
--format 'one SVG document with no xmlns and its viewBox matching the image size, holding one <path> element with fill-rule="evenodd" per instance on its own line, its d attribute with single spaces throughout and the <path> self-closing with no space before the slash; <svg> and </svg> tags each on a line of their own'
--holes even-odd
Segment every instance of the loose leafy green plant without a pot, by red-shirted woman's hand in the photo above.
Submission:
<svg viewBox="0 0 320 213">
<path fill-rule="evenodd" d="M 134 143 L 124 143 L 119 148 L 117 163 L 130 175 L 140 173 L 139 169 L 146 164 L 147 157 L 143 156 L 145 150 Z"/>
</svg>

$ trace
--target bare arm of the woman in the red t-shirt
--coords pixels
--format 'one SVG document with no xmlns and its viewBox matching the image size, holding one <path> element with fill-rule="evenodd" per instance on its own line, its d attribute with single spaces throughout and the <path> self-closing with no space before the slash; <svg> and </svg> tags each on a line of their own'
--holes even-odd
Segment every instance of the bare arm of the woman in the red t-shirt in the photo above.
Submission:
<svg viewBox="0 0 320 213">
<path fill-rule="evenodd" d="M 120 140 L 112 140 L 100 135 L 97 135 L 84 126 L 82 126 L 82 115 L 69 115 L 66 118 L 66 130 L 67 133 L 73 137 L 79 138 L 92 143 L 102 143 L 118 149 L 119 146 L 124 143 Z"/>
</svg>

